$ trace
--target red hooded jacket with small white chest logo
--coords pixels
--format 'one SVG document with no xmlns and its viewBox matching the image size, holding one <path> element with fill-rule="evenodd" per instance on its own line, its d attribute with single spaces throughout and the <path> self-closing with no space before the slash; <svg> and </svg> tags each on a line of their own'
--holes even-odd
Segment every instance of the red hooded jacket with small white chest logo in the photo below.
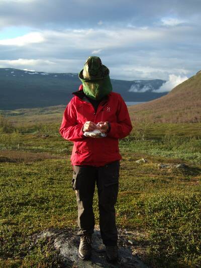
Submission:
<svg viewBox="0 0 201 268">
<path fill-rule="evenodd" d="M 79 89 L 82 89 L 80 86 Z M 86 99 L 80 99 L 79 92 L 67 105 L 60 133 L 64 139 L 74 142 L 71 155 L 72 165 L 102 166 L 120 160 L 118 139 L 126 137 L 132 130 L 127 106 L 118 93 L 110 93 L 95 110 Z M 85 137 L 83 124 L 92 121 L 110 122 L 111 129 L 104 138 Z"/>
</svg>

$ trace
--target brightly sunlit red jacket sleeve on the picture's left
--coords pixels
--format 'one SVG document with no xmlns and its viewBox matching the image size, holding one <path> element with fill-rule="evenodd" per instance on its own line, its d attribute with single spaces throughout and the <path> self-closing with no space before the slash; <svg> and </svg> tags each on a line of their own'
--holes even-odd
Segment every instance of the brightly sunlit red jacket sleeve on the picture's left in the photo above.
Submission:
<svg viewBox="0 0 201 268">
<path fill-rule="evenodd" d="M 82 127 L 82 124 L 77 123 L 76 110 L 72 99 L 65 109 L 59 132 L 66 140 L 81 141 L 85 138 Z"/>
</svg>

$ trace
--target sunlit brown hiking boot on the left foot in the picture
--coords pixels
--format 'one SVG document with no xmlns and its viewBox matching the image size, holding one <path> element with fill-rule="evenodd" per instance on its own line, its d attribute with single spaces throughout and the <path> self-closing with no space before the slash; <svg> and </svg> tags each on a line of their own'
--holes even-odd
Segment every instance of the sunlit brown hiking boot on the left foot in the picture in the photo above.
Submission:
<svg viewBox="0 0 201 268">
<path fill-rule="evenodd" d="M 83 234 L 80 236 L 78 255 L 81 259 L 89 259 L 91 255 L 91 234 Z"/>
</svg>

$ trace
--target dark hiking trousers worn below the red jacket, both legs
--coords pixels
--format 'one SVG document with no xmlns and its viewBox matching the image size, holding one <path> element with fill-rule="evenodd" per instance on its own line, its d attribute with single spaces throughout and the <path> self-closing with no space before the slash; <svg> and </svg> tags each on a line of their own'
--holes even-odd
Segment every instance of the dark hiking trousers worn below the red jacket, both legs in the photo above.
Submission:
<svg viewBox="0 0 201 268">
<path fill-rule="evenodd" d="M 118 234 L 115 221 L 115 203 L 119 188 L 119 161 L 105 166 L 74 165 L 72 187 L 78 209 L 78 235 L 92 234 L 94 214 L 92 209 L 95 183 L 98 191 L 99 226 L 105 245 L 116 245 Z"/>
</svg>

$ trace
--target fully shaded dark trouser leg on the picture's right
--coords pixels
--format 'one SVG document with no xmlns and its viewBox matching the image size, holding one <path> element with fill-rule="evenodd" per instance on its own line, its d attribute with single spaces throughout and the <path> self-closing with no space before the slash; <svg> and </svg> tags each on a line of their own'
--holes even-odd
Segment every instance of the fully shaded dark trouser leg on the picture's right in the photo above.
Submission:
<svg viewBox="0 0 201 268">
<path fill-rule="evenodd" d="M 116 245 L 118 233 L 116 227 L 115 204 L 119 189 L 119 161 L 98 167 L 98 207 L 99 225 L 103 243 Z"/>
</svg>

